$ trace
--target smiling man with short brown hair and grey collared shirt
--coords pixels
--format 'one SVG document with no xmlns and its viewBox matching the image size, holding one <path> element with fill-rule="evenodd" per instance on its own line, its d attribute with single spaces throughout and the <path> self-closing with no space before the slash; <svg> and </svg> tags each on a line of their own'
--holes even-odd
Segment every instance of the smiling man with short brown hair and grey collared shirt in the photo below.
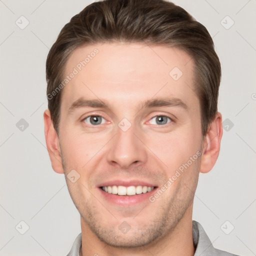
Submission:
<svg viewBox="0 0 256 256">
<path fill-rule="evenodd" d="M 206 28 L 171 2 L 94 2 L 62 28 L 44 123 L 81 216 L 68 255 L 232 255 L 192 221 L 220 148 L 220 75 Z"/>
</svg>

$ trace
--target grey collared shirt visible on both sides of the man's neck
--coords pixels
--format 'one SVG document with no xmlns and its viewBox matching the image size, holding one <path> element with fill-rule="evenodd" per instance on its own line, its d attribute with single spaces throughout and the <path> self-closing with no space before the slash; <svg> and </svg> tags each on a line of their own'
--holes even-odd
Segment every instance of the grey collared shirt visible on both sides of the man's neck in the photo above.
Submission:
<svg viewBox="0 0 256 256">
<path fill-rule="evenodd" d="M 196 248 L 194 256 L 237 256 L 223 250 L 215 249 L 202 226 L 195 220 L 193 220 L 193 244 Z M 79 233 L 67 256 L 79 256 L 81 245 L 82 235 Z"/>
</svg>

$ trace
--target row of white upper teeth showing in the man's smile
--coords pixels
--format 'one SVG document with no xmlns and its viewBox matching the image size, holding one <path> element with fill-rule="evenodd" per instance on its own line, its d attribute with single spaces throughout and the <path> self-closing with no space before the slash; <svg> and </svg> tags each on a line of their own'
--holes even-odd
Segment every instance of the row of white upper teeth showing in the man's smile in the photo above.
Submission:
<svg viewBox="0 0 256 256">
<path fill-rule="evenodd" d="M 110 194 L 118 194 L 118 195 L 134 195 L 150 192 L 153 190 L 153 186 L 102 186 L 102 189 Z"/>
</svg>

